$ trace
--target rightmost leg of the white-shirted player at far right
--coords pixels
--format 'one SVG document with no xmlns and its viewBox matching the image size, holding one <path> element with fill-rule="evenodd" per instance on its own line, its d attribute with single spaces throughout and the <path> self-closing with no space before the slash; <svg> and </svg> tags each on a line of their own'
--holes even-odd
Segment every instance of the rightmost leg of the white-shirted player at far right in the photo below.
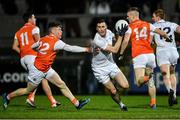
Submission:
<svg viewBox="0 0 180 120">
<path fill-rule="evenodd" d="M 171 81 L 171 86 L 172 86 L 172 89 L 174 91 L 174 104 L 177 104 L 178 101 L 177 101 L 177 98 L 176 98 L 176 73 L 175 73 L 175 66 L 174 65 L 171 65 L 170 66 L 170 81 Z"/>
</svg>

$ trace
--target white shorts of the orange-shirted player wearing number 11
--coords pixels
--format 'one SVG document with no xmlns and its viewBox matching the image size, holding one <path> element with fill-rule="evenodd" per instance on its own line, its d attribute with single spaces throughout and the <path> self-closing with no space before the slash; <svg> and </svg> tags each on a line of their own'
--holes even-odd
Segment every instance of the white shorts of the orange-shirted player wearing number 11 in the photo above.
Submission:
<svg viewBox="0 0 180 120">
<path fill-rule="evenodd" d="M 34 60 L 35 60 L 36 56 L 35 55 L 26 55 L 24 57 L 21 58 L 21 65 L 25 70 L 28 70 L 28 66 L 33 65 L 34 64 Z"/>
</svg>

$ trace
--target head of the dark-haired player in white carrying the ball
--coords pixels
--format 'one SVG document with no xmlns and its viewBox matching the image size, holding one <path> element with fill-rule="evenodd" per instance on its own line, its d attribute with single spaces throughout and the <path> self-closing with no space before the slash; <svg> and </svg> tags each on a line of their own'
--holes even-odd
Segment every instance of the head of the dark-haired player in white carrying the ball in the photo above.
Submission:
<svg viewBox="0 0 180 120">
<path fill-rule="evenodd" d="M 106 29 L 107 29 L 107 25 L 105 22 L 102 23 L 98 23 L 96 26 L 96 30 L 97 32 L 100 34 L 100 36 L 105 37 L 106 35 Z"/>
</svg>

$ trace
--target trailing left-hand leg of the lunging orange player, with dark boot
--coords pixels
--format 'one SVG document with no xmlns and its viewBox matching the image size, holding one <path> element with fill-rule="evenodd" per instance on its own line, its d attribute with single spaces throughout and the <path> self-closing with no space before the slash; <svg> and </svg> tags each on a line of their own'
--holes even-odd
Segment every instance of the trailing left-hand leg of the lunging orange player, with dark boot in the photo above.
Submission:
<svg viewBox="0 0 180 120">
<path fill-rule="evenodd" d="M 6 93 L 3 94 L 3 107 L 6 109 L 8 103 L 11 99 L 13 99 L 14 97 L 17 97 L 17 96 L 22 96 L 22 95 L 28 94 L 31 91 L 33 91 L 34 89 L 36 89 L 37 86 L 38 86 L 38 84 L 33 84 L 32 82 L 28 82 L 26 88 L 19 88 L 9 94 L 6 94 Z"/>
</svg>

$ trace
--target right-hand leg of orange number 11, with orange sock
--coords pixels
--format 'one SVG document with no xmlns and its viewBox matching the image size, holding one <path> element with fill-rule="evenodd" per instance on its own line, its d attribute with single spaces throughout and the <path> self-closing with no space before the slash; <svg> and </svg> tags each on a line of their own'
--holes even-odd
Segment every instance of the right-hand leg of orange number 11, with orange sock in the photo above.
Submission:
<svg viewBox="0 0 180 120">
<path fill-rule="evenodd" d="M 53 97 L 52 92 L 51 92 L 51 88 L 50 88 L 48 81 L 46 79 L 42 80 L 42 88 L 43 88 L 44 92 L 46 93 L 46 96 L 48 97 L 49 101 L 51 102 L 51 107 L 57 107 L 57 106 L 61 105 Z"/>
</svg>

